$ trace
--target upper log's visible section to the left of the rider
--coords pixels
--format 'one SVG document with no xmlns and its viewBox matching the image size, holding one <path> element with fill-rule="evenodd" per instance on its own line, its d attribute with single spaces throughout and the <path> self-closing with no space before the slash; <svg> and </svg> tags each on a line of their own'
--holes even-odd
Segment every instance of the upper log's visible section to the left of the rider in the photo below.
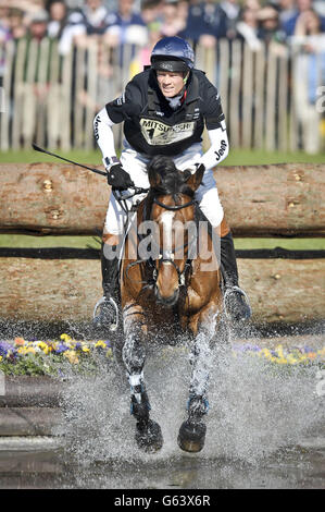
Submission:
<svg viewBox="0 0 325 512">
<path fill-rule="evenodd" d="M 97 234 L 109 196 L 104 179 L 75 166 L 2 163 L 0 232 Z"/>
</svg>

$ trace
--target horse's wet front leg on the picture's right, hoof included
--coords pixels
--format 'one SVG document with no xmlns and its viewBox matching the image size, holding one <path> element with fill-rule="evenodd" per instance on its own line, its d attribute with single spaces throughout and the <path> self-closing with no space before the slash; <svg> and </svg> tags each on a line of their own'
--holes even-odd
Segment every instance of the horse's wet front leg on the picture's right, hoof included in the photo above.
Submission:
<svg viewBox="0 0 325 512">
<path fill-rule="evenodd" d="M 205 441 L 207 426 L 203 420 L 209 410 L 208 383 L 211 364 L 211 339 L 215 331 L 216 312 L 208 312 L 192 320 L 193 343 L 190 351 L 191 379 L 187 402 L 187 419 L 178 434 L 178 446 L 187 452 L 199 452 Z"/>
</svg>

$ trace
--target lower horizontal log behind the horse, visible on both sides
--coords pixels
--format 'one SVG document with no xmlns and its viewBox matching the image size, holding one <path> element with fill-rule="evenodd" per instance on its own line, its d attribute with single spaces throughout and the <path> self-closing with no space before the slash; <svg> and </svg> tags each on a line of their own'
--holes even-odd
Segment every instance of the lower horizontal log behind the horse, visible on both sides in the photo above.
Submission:
<svg viewBox="0 0 325 512">
<path fill-rule="evenodd" d="M 325 259 L 238 259 L 238 267 L 253 321 L 324 319 Z M 0 258 L 0 282 L 2 319 L 90 320 L 102 294 L 97 259 Z"/>
</svg>

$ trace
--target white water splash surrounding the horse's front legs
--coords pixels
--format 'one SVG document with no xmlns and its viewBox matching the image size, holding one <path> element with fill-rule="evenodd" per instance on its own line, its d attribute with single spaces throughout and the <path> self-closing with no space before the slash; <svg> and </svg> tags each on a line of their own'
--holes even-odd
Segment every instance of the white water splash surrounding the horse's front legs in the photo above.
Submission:
<svg viewBox="0 0 325 512">
<path fill-rule="evenodd" d="M 188 351 L 160 348 L 148 355 L 145 380 L 151 417 L 161 425 L 164 446 L 148 455 L 135 443 L 126 377 L 102 366 L 93 377 L 74 376 L 62 395 L 64 450 L 84 467 L 93 463 L 201 463 L 236 460 L 260 464 L 283 447 L 295 446 L 324 419 L 324 403 L 315 393 L 315 367 L 275 367 L 259 357 L 213 351 L 209 364 L 210 411 L 202 452 L 180 452 L 176 439 L 186 418 L 190 380 Z"/>
</svg>

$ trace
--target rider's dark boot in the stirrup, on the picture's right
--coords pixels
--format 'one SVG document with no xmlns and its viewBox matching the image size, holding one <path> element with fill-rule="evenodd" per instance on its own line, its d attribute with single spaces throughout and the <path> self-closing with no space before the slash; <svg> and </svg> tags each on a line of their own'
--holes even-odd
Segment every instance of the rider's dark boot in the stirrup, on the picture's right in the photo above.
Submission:
<svg viewBox="0 0 325 512">
<path fill-rule="evenodd" d="M 247 320 L 251 308 L 246 293 L 238 287 L 238 269 L 232 233 L 221 239 L 221 270 L 224 280 L 224 303 L 227 316 L 235 321 Z"/>
</svg>

